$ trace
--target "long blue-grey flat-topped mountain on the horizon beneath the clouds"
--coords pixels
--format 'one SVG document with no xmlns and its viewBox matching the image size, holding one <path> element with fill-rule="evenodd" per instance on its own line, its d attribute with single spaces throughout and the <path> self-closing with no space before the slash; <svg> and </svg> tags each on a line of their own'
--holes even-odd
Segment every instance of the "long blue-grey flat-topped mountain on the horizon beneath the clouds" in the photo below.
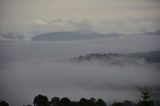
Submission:
<svg viewBox="0 0 160 106">
<path fill-rule="evenodd" d="M 86 40 L 104 37 L 115 37 L 119 34 L 98 34 L 98 33 L 82 33 L 82 32 L 50 32 L 34 36 L 32 41 L 72 41 Z"/>
</svg>

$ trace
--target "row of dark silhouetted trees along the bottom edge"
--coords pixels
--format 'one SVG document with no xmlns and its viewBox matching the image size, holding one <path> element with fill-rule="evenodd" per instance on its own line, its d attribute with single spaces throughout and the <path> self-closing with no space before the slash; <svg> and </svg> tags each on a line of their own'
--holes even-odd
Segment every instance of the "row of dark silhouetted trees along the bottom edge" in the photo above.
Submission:
<svg viewBox="0 0 160 106">
<path fill-rule="evenodd" d="M 124 102 L 114 102 L 110 105 L 102 99 L 85 99 L 81 98 L 79 101 L 71 101 L 69 98 L 59 98 L 53 97 L 50 101 L 47 96 L 37 95 L 33 100 L 33 106 L 160 106 L 160 102 L 154 102 L 151 99 L 151 95 L 148 91 L 142 92 L 142 98 L 138 103 L 133 103 L 132 101 L 125 100 Z M 9 106 L 5 101 L 0 101 L 0 106 Z M 22 105 L 22 106 L 32 106 L 32 105 Z"/>
</svg>

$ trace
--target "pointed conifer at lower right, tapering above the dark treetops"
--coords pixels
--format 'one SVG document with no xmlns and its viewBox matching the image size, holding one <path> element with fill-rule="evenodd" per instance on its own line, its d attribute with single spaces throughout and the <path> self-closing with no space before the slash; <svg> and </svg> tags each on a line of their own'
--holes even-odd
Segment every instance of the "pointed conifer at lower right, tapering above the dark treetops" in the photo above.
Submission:
<svg viewBox="0 0 160 106">
<path fill-rule="evenodd" d="M 142 100 L 139 101 L 137 106 L 153 106 L 153 100 L 151 99 L 151 94 L 148 90 L 142 91 Z"/>
</svg>

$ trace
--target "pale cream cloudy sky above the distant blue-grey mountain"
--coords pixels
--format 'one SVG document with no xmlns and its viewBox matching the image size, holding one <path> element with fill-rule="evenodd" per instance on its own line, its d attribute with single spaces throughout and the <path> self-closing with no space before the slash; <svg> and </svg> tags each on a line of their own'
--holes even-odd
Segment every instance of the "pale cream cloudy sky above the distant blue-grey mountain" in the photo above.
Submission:
<svg viewBox="0 0 160 106">
<path fill-rule="evenodd" d="M 159 10 L 159 0 L 0 0 L 0 32 L 155 32 Z"/>
</svg>

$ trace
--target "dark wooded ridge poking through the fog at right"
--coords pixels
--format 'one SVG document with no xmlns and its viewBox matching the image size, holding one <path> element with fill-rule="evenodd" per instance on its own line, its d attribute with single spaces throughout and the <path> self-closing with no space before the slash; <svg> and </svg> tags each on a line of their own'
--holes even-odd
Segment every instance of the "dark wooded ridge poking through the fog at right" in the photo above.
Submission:
<svg viewBox="0 0 160 106">
<path fill-rule="evenodd" d="M 131 54 L 121 54 L 121 53 L 91 53 L 84 56 L 78 56 L 71 58 L 71 61 L 83 62 L 83 61 L 104 61 L 109 63 L 119 63 L 123 60 L 128 60 L 128 62 L 134 62 L 137 60 L 145 60 L 149 63 L 160 63 L 160 50 L 142 52 L 142 53 L 131 53 Z"/>
</svg>

